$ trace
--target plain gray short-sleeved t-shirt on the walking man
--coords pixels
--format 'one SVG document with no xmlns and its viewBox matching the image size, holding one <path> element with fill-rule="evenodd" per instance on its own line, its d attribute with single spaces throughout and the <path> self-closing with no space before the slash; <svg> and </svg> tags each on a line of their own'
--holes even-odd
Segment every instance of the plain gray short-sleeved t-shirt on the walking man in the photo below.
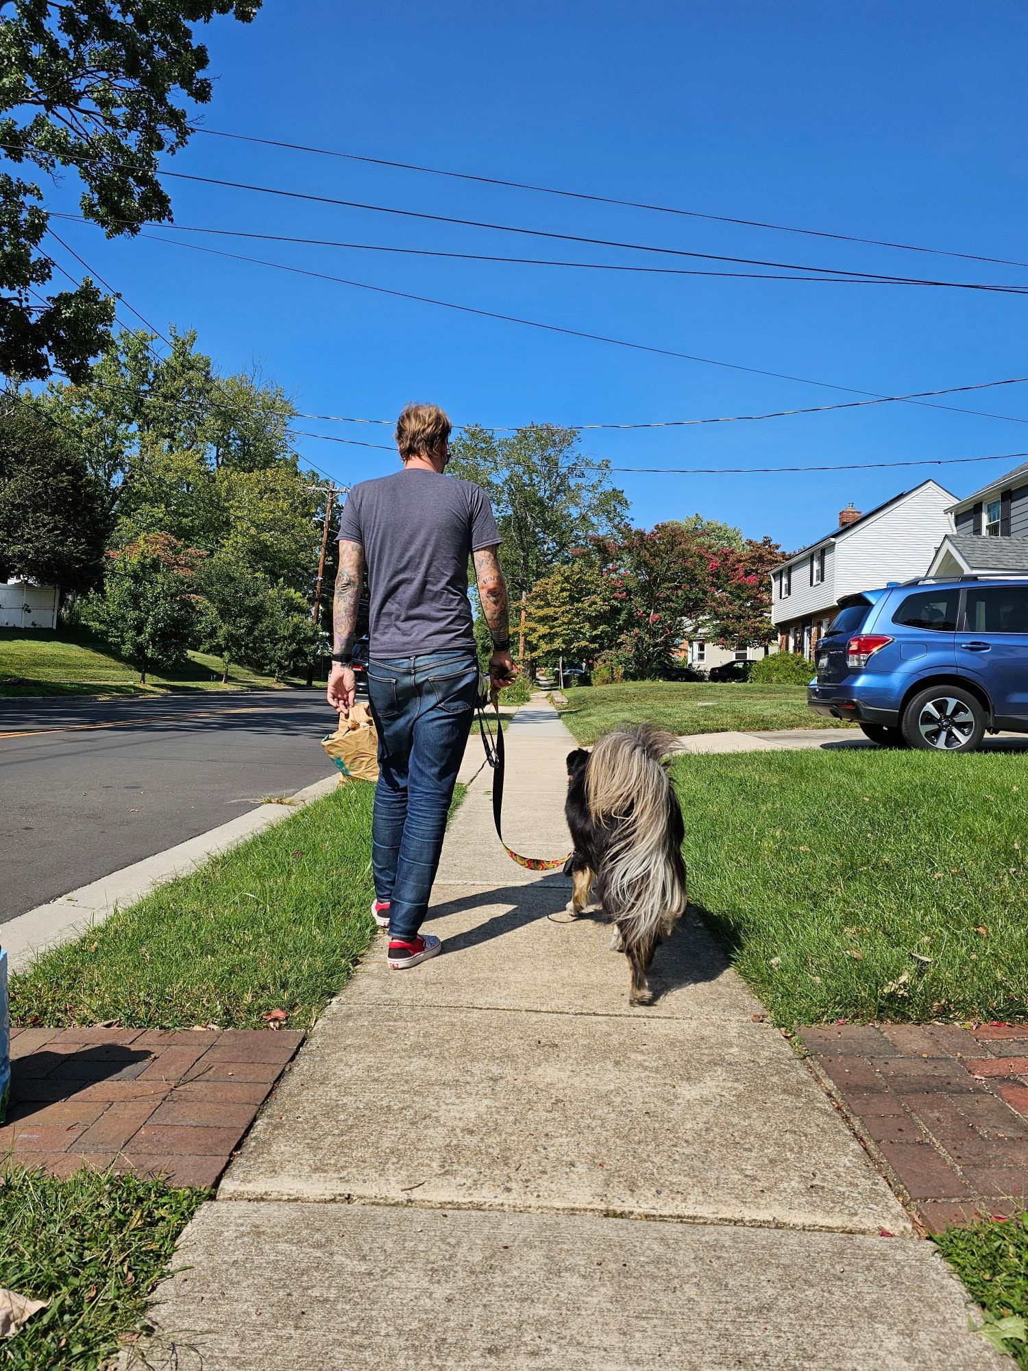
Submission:
<svg viewBox="0 0 1028 1371">
<path fill-rule="evenodd" d="M 500 540 L 477 485 L 422 469 L 362 481 L 343 506 L 339 539 L 365 550 L 371 657 L 474 651 L 467 558 Z"/>
</svg>

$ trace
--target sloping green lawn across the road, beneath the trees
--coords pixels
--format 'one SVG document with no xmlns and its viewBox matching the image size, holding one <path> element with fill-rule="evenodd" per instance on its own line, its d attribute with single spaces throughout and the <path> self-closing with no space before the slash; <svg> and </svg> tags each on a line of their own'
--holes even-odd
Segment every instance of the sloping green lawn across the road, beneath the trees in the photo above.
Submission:
<svg viewBox="0 0 1028 1371">
<path fill-rule="evenodd" d="M 181 672 L 173 676 L 155 673 L 147 677 L 147 686 L 140 686 L 140 673 L 134 666 L 85 632 L 0 628 L 0 695 L 158 695 L 169 688 L 267 688 L 274 684 L 270 676 L 232 666 L 229 686 L 223 687 L 217 657 L 191 653 L 189 661 L 191 665 Z"/>
</svg>

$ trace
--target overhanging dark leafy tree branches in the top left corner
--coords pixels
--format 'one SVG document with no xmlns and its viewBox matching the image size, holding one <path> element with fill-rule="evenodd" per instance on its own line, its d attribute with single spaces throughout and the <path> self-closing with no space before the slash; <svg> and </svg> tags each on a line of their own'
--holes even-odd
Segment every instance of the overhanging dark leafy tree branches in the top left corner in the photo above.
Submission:
<svg viewBox="0 0 1028 1371">
<path fill-rule="evenodd" d="M 249 22 L 260 0 L 7 0 L 0 22 L 0 148 L 48 180 L 73 169 L 82 214 L 108 237 L 171 217 L 158 177 L 162 152 L 185 147 L 182 99 L 207 104 L 207 49 L 193 27 L 214 15 Z M 40 250 L 48 213 L 32 180 L 0 173 L 0 370 L 38 380 L 53 366 L 88 374 L 114 321 L 114 302 L 88 277 L 49 295 Z"/>
</svg>

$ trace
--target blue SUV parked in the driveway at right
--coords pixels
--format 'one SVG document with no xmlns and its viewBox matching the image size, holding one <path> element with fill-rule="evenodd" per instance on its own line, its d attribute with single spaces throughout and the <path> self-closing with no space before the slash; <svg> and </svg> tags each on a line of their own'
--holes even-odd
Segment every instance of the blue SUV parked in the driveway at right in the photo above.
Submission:
<svg viewBox="0 0 1028 1371">
<path fill-rule="evenodd" d="M 843 596 L 807 698 L 891 747 L 970 753 L 986 732 L 1028 733 L 1028 579 L 921 579 Z"/>
</svg>

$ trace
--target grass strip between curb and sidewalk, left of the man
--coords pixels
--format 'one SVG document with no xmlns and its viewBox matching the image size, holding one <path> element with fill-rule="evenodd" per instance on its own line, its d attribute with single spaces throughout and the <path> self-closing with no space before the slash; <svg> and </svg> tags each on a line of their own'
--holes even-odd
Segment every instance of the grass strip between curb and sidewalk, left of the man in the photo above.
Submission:
<svg viewBox="0 0 1028 1371">
<path fill-rule="evenodd" d="M 374 787 L 341 786 L 44 953 L 11 983 L 11 1021 L 132 1028 L 307 1028 L 350 978 L 376 925 Z"/>
</svg>

